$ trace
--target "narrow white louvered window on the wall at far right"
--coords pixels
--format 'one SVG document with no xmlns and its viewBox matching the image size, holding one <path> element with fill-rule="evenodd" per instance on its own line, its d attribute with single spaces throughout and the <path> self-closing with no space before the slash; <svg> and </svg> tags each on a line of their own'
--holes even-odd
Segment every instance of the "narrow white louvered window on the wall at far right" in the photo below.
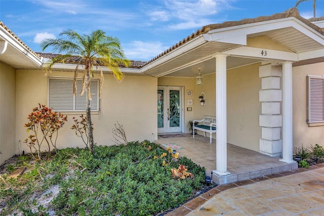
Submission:
<svg viewBox="0 0 324 216">
<path fill-rule="evenodd" d="M 324 122 L 324 78 L 307 76 L 307 123 Z"/>
</svg>

